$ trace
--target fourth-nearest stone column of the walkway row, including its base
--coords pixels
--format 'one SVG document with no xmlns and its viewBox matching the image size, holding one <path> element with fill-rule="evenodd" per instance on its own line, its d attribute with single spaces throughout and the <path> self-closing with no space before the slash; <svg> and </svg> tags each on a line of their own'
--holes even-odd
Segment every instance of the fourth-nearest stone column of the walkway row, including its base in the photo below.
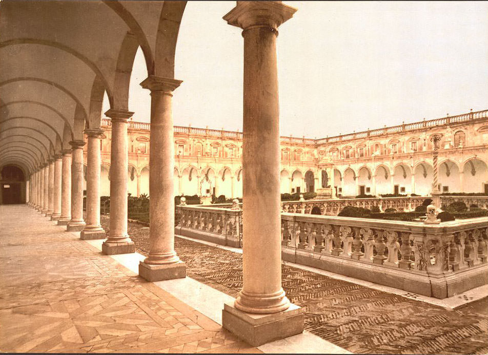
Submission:
<svg viewBox="0 0 488 355">
<path fill-rule="evenodd" d="M 87 221 L 81 239 L 105 239 L 100 225 L 100 138 L 103 129 L 85 129 L 88 136 L 87 158 Z"/>
</svg>

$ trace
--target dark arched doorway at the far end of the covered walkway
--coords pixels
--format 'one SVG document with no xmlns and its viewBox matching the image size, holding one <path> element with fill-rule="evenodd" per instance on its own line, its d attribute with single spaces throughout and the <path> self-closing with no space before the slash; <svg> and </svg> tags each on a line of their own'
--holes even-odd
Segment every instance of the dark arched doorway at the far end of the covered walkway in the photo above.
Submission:
<svg viewBox="0 0 488 355">
<path fill-rule="evenodd" d="M 0 205 L 26 203 L 26 179 L 18 166 L 9 164 L 0 170 L 0 186 Z"/>
</svg>

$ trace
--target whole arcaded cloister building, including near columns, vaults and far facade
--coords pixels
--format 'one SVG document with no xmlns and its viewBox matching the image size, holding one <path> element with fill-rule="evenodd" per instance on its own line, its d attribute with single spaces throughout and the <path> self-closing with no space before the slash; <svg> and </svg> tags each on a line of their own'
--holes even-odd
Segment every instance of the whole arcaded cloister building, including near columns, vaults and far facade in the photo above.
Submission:
<svg viewBox="0 0 488 355">
<path fill-rule="evenodd" d="M 243 137 L 173 126 L 172 98 L 181 84 L 174 78 L 176 42 L 186 2 L 0 5 L 3 203 L 26 201 L 82 239 L 107 237 L 102 252 L 112 255 L 135 250 L 127 192 L 149 193 L 150 250 L 139 276 L 157 281 L 186 276 L 174 250 L 174 195 L 242 195 L 243 286 L 234 302 L 222 305 L 222 323 L 253 345 L 256 317 L 273 325 L 259 342 L 303 329 L 301 308 L 281 287 L 280 192 L 379 194 L 398 186 L 399 192 L 428 193 L 435 133 L 442 136 L 443 186 L 482 191 L 488 182 L 486 111 L 319 140 L 280 138 L 276 41 L 278 27 L 296 11 L 281 2 L 237 2 L 223 17 L 243 30 L 243 39 L 236 37 L 246 49 Z M 150 130 L 131 121 L 128 105 L 139 47 Z M 102 118 L 105 94 L 110 109 Z M 107 236 L 100 195 L 111 199 Z"/>
</svg>

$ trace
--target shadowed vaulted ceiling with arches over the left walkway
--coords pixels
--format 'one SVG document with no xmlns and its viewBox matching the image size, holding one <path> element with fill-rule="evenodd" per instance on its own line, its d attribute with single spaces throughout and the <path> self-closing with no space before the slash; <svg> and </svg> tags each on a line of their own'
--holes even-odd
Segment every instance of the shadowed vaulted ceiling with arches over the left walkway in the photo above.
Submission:
<svg viewBox="0 0 488 355">
<path fill-rule="evenodd" d="M 29 175 L 85 128 L 100 126 L 104 93 L 127 110 L 135 53 L 149 75 L 174 78 L 186 2 L 0 3 L 0 167 Z"/>
</svg>

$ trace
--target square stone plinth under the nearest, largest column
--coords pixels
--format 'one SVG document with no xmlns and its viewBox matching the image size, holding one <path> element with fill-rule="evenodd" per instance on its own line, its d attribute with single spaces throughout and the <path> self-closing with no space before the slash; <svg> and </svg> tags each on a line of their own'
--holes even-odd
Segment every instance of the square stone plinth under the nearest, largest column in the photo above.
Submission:
<svg viewBox="0 0 488 355">
<path fill-rule="evenodd" d="M 300 334 L 303 320 L 303 309 L 293 303 L 287 310 L 271 314 L 245 313 L 233 302 L 222 309 L 222 327 L 252 346 Z"/>
</svg>

